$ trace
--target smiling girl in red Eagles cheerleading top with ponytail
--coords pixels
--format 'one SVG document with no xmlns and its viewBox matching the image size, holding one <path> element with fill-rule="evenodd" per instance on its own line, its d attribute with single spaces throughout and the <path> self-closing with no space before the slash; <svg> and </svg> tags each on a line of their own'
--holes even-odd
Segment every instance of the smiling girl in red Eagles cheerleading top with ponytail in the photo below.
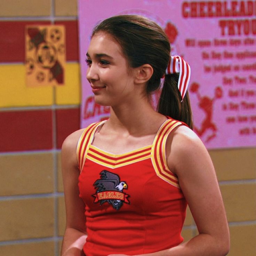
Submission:
<svg viewBox="0 0 256 256">
<path fill-rule="evenodd" d="M 226 255 L 229 230 L 214 167 L 192 131 L 189 65 L 170 57 L 161 27 L 134 15 L 96 26 L 86 61 L 95 102 L 111 112 L 63 143 L 62 256 Z M 166 69 L 156 112 L 150 94 Z M 182 243 L 187 204 L 199 234 Z"/>
</svg>

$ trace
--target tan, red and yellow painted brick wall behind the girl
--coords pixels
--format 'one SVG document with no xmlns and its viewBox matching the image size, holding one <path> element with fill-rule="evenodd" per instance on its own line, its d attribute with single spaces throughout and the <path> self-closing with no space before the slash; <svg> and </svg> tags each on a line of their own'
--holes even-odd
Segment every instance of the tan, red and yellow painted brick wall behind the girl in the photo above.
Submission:
<svg viewBox="0 0 256 256">
<path fill-rule="evenodd" d="M 65 25 L 65 86 L 25 86 L 27 24 Z M 60 148 L 80 123 L 77 2 L 0 0 L 0 34 L 0 255 L 57 256 L 65 229 Z M 256 148 L 209 153 L 230 225 L 229 256 L 254 256 Z M 197 234 L 189 210 L 182 234 Z"/>
</svg>

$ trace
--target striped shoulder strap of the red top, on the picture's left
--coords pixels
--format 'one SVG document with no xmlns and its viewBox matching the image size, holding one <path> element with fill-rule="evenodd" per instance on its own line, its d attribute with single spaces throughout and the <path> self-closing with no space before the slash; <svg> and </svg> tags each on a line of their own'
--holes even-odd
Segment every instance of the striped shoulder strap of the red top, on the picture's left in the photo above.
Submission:
<svg viewBox="0 0 256 256">
<path fill-rule="evenodd" d="M 83 169 L 83 165 L 85 163 L 88 148 L 89 148 L 89 145 L 91 144 L 91 141 L 93 140 L 94 133 L 95 133 L 96 129 L 103 122 L 104 121 L 98 122 L 98 123 L 92 123 L 91 125 L 87 126 L 79 138 L 79 141 L 77 144 L 77 160 L 78 160 L 78 167 L 79 167 L 80 172 Z"/>
</svg>

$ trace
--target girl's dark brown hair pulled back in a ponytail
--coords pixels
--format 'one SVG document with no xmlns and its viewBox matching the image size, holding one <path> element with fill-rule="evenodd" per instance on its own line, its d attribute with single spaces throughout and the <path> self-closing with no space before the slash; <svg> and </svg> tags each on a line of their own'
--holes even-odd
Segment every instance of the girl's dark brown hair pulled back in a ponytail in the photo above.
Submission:
<svg viewBox="0 0 256 256">
<path fill-rule="evenodd" d="M 170 42 L 159 25 L 142 16 L 120 15 L 99 23 L 94 28 L 92 37 L 99 31 L 109 33 L 117 40 L 131 67 L 139 67 L 143 64 L 152 66 L 154 72 L 147 83 L 147 94 L 160 88 L 161 78 L 170 59 Z M 177 74 L 165 76 L 158 112 L 183 121 L 192 128 L 189 96 L 187 93 L 181 102 L 177 82 Z"/>
</svg>

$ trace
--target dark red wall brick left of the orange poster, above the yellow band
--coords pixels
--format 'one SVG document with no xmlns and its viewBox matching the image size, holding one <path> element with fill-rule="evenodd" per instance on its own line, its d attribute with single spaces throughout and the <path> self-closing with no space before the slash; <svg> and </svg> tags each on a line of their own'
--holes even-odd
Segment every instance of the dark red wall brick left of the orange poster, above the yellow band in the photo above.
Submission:
<svg viewBox="0 0 256 256">
<path fill-rule="evenodd" d="M 24 62 L 25 26 L 50 24 L 49 21 L 1 21 L 0 22 L 0 62 Z"/>
</svg>

